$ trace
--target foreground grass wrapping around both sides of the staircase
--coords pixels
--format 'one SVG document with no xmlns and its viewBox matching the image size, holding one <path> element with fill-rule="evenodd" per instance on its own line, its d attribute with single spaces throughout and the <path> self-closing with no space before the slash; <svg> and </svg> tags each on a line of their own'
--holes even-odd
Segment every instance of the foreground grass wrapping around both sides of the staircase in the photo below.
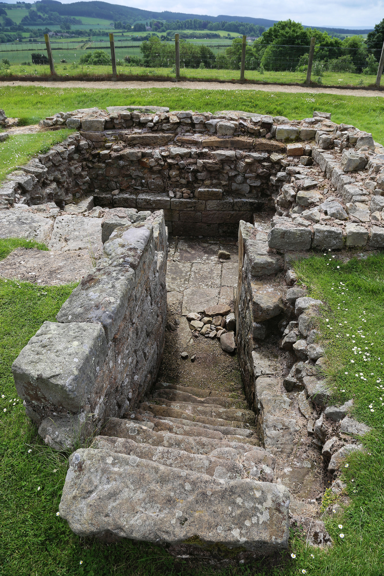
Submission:
<svg viewBox="0 0 384 576">
<path fill-rule="evenodd" d="M 0 257 L 17 245 L 34 247 L 36 243 L 0 240 Z M 355 417 L 372 426 L 372 433 L 363 441 L 364 453 L 349 456 L 349 467 L 343 468 L 350 506 L 344 516 L 325 520 L 333 548 L 306 550 L 305 540 L 292 532 L 290 550 L 269 570 L 263 568 L 263 563 L 223 571 L 199 567 L 188 570 L 149 544 L 127 541 L 107 546 L 73 535 L 66 522 L 56 517 L 68 454 L 52 452 L 41 441 L 17 400 L 10 367 L 43 321 L 55 320 L 74 285 L 44 287 L 0 279 L 1 574 L 294 576 L 302 570 L 314 576 L 383 573 L 384 257 L 370 256 L 341 264 L 332 256 L 320 256 L 303 260 L 296 269 L 310 295 L 326 303 L 321 332 L 330 365 L 328 379 L 334 389 L 332 400 L 336 403 L 353 397 Z M 343 528 L 339 529 L 338 524 Z M 343 540 L 340 533 L 345 535 Z M 296 558 L 291 559 L 291 553 Z"/>
</svg>

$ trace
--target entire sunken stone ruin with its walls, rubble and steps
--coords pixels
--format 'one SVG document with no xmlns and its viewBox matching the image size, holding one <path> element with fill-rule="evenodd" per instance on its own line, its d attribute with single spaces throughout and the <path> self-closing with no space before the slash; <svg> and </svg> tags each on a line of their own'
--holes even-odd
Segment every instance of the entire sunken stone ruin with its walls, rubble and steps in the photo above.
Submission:
<svg viewBox="0 0 384 576">
<path fill-rule="evenodd" d="M 370 429 L 352 400 L 330 406 L 322 302 L 290 263 L 384 247 L 383 147 L 322 112 L 111 107 L 40 126 L 64 124 L 78 131 L 0 188 L 0 237 L 45 241 L 46 259 L 83 276 L 13 365 L 51 448 L 95 435 L 70 457 L 60 516 L 81 536 L 147 540 L 216 566 L 286 548 L 288 526 L 331 545 L 308 520 Z M 170 238 L 169 257 L 168 232 L 199 241 Z M 17 274 L 26 252 L 0 274 L 60 282 L 42 260 Z M 201 340 L 237 355 L 245 396 L 156 381 L 165 328 L 181 362 Z"/>
</svg>

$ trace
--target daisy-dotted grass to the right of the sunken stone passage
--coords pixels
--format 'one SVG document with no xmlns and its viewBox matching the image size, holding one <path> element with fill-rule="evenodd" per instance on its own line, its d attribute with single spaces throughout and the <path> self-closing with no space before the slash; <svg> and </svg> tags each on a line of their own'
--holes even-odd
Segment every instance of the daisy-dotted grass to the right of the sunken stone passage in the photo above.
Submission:
<svg viewBox="0 0 384 576">
<path fill-rule="evenodd" d="M 352 258 L 343 264 L 327 254 L 302 260 L 296 271 L 309 294 L 325 302 L 320 330 L 329 363 L 327 378 L 334 391 L 330 401 L 353 398 L 353 416 L 371 426 L 372 433 L 363 439 L 364 453 L 349 456 L 349 467 L 343 468 L 351 503 L 344 517 L 325 522 L 334 540 L 332 551 L 314 552 L 311 559 L 305 541 L 296 539 L 292 543 L 295 564 L 308 574 L 382 574 L 384 257 Z"/>
</svg>

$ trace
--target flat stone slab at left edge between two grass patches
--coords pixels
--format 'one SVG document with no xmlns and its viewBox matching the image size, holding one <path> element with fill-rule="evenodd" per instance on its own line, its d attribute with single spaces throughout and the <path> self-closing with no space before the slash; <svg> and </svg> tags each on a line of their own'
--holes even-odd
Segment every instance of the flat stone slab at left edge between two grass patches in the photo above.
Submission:
<svg viewBox="0 0 384 576">
<path fill-rule="evenodd" d="M 41 286 L 59 286 L 78 282 L 91 268 L 89 253 L 84 250 L 51 252 L 16 248 L 0 261 L 0 276 Z"/>
</svg>

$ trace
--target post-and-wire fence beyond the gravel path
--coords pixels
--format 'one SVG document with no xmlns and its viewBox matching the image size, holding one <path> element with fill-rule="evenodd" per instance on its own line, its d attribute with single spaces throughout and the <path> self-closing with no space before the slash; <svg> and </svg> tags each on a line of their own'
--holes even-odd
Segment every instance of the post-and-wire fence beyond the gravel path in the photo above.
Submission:
<svg viewBox="0 0 384 576">
<path fill-rule="evenodd" d="M 241 39 L 240 39 L 241 40 Z M 59 77 L 101 77 L 112 74 L 109 40 L 51 41 L 55 74 Z M 247 42 L 244 78 L 249 82 L 303 84 L 310 46 Z M 176 78 L 175 42 L 158 37 L 141 43 L 115 40 L 116 73 L 128 77 Z M 244 52 L 243 52 L 244 55 Z M 0 44 L 0 76 L 51 74 L 45 42 Z M 241 79 L 241 41 L 231 45 L 206 41 L 180 42 L 180 78 L 215 81 Z M 377 79 L 381 50 L 362 43 L 348 47 L 315 46 L 311 84 L 369 86 Z"/>
</svg>

